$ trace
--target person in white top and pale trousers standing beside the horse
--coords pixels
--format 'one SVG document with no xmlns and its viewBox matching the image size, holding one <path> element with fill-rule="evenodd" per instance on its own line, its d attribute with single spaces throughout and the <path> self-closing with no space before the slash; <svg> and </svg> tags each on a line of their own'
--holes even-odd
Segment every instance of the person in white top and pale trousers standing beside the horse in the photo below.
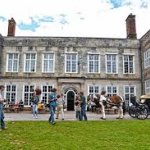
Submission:
<svg viewBox="0 0 150 150">
<path fill-rule="evenodd" d="M 106 91 L 102 91 L 100 95 L 99 104 L 101 105 L 102 117 L 101 119 L 106 120 L 105 116 L 105 102 L 106 102 Z"/>
</svg>

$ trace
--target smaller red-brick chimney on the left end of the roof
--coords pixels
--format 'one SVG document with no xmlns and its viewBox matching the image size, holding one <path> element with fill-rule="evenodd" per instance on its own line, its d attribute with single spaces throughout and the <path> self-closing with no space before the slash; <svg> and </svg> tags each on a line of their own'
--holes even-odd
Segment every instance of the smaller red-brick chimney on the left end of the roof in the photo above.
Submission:
<svg viewBox="0 0 150 150">
<path fill-rule="evenodd" d="M 16 22 L 13 18 L 8 20 L 8 34 L 7 36 L 15 36 Z"/>
</svg>

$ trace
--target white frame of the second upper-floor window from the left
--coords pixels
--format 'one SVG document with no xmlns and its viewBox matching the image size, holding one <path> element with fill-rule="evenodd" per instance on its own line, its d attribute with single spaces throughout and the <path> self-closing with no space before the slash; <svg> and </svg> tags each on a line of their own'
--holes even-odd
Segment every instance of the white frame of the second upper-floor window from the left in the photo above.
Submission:
<svg viewBox="0 0 150 150">
<path fill-rule="evenodd" d="M 27 57 L 27 54 L 30 54 L 30 55 L 34 54 L 34 55 L 35 55 L 35 59 L 31 59 L 31 56 L 30 56 L 30 59 L 29 59 L 29 61 L 30 61 L 30 64 L 29 64 L 29 71 L 26 70 L 26 61 L 27 61 L 26 57 Z M 31 67 L 32 67 L 32 66 L 31 66 L 31 60 L 34 60 L 34 61 L 35 61 L 34 68 L 31 68 Z M 36 64 L 37 64 L 37 53 L 25 53 L 25 54 L 24 54 L 24 72 L 29 72 L 29 73 L 34 73 L 34 72 L 36 72 Z M 34 69 L 34 70 L 33 70 L 33 69 Z"/>
</svg>

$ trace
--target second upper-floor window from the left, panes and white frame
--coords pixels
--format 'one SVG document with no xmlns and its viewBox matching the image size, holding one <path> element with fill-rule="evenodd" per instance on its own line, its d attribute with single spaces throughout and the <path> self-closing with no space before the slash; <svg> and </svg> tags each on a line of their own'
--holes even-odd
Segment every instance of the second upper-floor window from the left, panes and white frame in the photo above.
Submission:
<svg viewBox="0 0 150 150">
<path fill-rule="evenodd" d="M 36 54 L 27 53 L 25 54 L 25 72 L 36 71 Z"/>
</svg>

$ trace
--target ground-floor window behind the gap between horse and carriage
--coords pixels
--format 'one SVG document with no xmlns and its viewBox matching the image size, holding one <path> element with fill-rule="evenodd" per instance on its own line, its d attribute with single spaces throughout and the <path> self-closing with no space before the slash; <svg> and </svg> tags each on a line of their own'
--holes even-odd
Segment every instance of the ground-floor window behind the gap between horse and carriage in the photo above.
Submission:
<svg viewBox="0 0 150 150">
<path fill-rule="evenodd" d="M 130 98 L 135 96 L 135 86 L 126 85 L 124 86 L 124 99 L 126 102 L 126 106 L 130 105 Z"/>
</svg>

